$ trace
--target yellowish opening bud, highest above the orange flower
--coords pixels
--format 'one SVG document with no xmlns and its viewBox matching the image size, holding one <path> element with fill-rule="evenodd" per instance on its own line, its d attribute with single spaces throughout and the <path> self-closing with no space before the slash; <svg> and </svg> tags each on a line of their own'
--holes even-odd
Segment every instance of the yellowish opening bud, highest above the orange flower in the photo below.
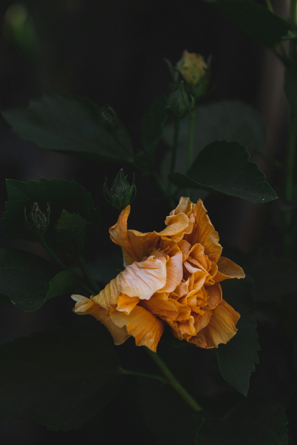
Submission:
<svg viewBox="0 0 297 445">
<path fill-rule="evenodd" d="M 189 85 L 195 86 L 206 73 L 207 64 L 200 54 L 188 53 L 185 49 L 176 68 Z"/>
</svg>

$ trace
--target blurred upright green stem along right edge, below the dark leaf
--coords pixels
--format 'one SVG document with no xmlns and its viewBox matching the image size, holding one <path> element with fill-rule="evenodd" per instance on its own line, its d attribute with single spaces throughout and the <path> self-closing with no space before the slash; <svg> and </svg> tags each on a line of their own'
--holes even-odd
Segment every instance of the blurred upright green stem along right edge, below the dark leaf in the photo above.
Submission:
<svg viewBox="0 0 297 445">
<path fill-rule="evenodd" d="M 294 174 L 294 160 L 297 143 L 297 116 L 291 114 L 289 139 L 287 154 L 285 159 L 285 201 L 288 205 L 293 201 L 293 174 Z M 285 233 L 284 233 L 284 253 L 285 258 L 289 259 L 292 253 L 292 212 L 285 211 Z"/>
</svg>

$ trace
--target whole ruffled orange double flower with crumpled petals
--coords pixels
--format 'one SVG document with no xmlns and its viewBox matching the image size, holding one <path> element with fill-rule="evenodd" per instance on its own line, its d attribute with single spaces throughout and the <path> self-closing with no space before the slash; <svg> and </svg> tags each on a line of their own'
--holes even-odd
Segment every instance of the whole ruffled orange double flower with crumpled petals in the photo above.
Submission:
<svg viewBox="0 0 297 445">
<path fill-rule="evenodd" d="M 221 256 L 218 233 L 201 199 L 180 198 L 161 232 L 127 230 L 130 206 L 110 227 L 122 247 L 124 271 L 90 299 L 72 295 L 74 312 L 91 314 L 110 331 L 114 344 L 133 336 L 156 351 L 164 323 L 179 340 L 217 348 L 236 334 L 240 317 L 222 299 L 220 281 L 244 278 L 241 267 Z"/>
</svg>

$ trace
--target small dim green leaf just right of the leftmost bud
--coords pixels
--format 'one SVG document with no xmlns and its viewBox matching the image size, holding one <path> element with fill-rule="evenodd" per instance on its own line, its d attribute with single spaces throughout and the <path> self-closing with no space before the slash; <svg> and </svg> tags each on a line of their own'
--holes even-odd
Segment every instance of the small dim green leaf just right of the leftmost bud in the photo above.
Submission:
<svg viewBox="0 0 297 445">
<path fill-rule="evenodd" d="M 88 223 L 76 213 L 63 210 L 56 225 L 58 246 L 70 256 L 79 256 L 85 247 Z"/>
</svg>

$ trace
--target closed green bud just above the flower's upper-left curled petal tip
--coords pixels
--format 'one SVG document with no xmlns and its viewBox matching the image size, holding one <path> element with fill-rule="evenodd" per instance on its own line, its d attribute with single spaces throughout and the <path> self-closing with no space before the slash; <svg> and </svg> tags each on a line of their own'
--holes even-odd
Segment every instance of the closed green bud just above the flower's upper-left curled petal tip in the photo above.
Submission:
<svg viewBox="0 0 297 445">
<path fill-rule="evenodd" d="M 136 196 L 135 178 L 133 174 L 132 185 L 124 176 L 123 169 L 121 169 L 117 176 L 114 178 L 114 182 L 111 186 L 110 191 L 106 185 L 107 178 L 104 182 L 103 193 L 106 200 L 118 211 L 122 211 L 126 206 L 134 201 Z"/>
</svg>

